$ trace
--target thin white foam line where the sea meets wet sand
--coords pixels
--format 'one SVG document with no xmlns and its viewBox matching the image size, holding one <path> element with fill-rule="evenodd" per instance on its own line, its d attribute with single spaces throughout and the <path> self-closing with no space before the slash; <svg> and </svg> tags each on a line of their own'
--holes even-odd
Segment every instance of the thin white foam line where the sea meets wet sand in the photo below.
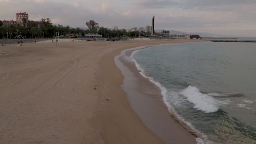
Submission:
<svg viewBox="0 0 256 144">
<path fill-rule="evenodd" d="M 198 136 L 198 138 L 196 139 L 197 144 L 211 144 L 211 142 L 209 142 L 207 140 L 207 136 L 203 135 L 203 133 L 201 133 L 200 131 L 198 131 L 196 128 L 193 127 L 193 125 L 187 121 L 184 120 L 183 117 L 181 117 L 179 114 L 177 114 L 177 112 L 174 110 L 173 106 L 168 102 L 168 90 L 167 88 L 165 88 L 161 83 L 159 83 L 158 81 L 154 80 L 153 77 L 148 77 L 144 71 L 144 69 L 137 63 L 137 61 L 133 58 L 134 54 L 141 51 L 140 50 L 136 50 L 133 51 L 133 53 L 131 54 L 131 59 L 132 61 L 135 63 L 136 68 L 139 70 L 139 73 L 146 79 L 148 79 L 151 83 L 154 83 L 158 88 L 160 88 L 161 91 L 161 95 L 163 96 L 163 101 L 165 103 L 165 105 L 168 107 L 168 111 L 170 112 L 170 114 L 173 116 L 174 119 L 178 120 L 180 122 L 180 124 L 182 126 L 184 126 L 184 128 L 186 128 L 189 132 L 194 133 L 195 135 Z"/>
</svg>

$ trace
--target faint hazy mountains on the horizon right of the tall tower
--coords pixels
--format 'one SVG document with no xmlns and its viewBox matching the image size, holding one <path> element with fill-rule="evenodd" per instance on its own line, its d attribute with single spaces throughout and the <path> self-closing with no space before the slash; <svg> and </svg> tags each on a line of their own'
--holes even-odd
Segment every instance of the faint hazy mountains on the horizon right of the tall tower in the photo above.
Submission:
<svg viewBox="0 0 256 144">
<path fill-rule="evenodd" d="M 162 32 L 165 29 L 155 29 L 155 32 Z M 226 35 L 220 35 L 220 34 L 211 34 L 211 33 L 203 33 L 203 32 L 181 32 L 181 31 L 175 31 L 175 30 L 169 30 L 170 35 L 200 35 L 201 37 L 226 37 Z"/>
</svg>

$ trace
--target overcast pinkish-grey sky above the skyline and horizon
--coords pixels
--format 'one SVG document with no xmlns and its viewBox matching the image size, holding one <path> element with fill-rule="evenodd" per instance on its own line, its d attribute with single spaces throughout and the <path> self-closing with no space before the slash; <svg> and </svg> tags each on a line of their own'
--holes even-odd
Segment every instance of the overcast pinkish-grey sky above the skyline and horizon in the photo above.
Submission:
<svg viewBox="0 0 256 144">
<path fill-rule="evenodd" d="M 29 20 L 49 17 L 71 27 L 95 20 L 109 28 L 145 27 L 155 15 L 155 29 L 256 37 L 256 0 L 0 0 L 0 20 L 19 12 Z"/>
</svg>

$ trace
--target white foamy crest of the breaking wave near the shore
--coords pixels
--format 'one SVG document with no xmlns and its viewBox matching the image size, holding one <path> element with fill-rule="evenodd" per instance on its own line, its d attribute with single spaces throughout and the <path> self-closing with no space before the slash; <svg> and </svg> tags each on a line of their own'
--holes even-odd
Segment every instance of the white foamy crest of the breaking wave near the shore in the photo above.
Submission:
<svg viewBox="0 0 256 144">
<path fill-rule="evenodd" d="M 187 100 L 195 104 L 194 108 L 205 113 L 216 112 L 219 110 L 218 101 L 207 94 L 200 93 L 197 87 L 189 85 L 180 94 L 187 97 Z"/>
</svg>

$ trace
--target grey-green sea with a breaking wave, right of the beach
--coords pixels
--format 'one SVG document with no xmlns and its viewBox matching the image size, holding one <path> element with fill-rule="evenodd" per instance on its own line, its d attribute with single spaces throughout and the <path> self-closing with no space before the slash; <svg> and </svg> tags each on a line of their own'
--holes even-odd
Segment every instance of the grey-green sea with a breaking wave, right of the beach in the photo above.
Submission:
<svg viewBox="0 0 256 144">
<path fill-rule="evenodd" d="M 156 45 L 132 58 L 198 142 L 256 143 L 256 43 Z"/>
</svg>

